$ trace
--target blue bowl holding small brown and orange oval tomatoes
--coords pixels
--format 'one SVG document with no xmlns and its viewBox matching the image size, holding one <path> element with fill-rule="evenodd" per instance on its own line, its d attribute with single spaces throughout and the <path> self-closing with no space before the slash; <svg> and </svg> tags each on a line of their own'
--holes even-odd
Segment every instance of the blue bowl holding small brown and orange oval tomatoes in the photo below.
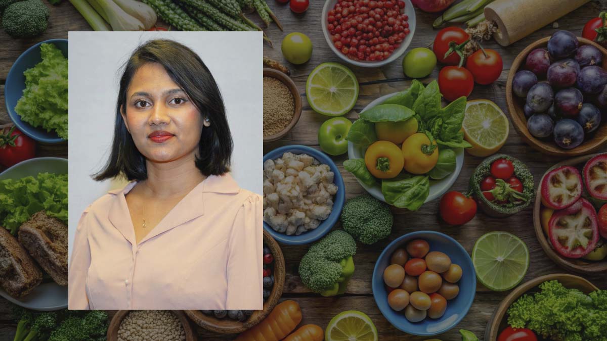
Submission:
<svg viewBox="0 0 607 341">
<path fill-rule="evenodd" d="M 390 257 L 398 248 L 405 248 L 407 242 L 413 239 L 426 240 L 430 251 L 441 251 L 449 255 L 452 263 L 461 266 L 462 277 L 457 283 L 459 294 L 455 299 L 447 301 L 447 310 L 440 319 L 426 319 L 421 322 L 409 322 L 403 311 L 395 311 L 388 305 L 388 293 L 384 285 L 384 270 L 390 265 Z M 411 232 L 396 238 L 379 255 L 373 270 L 373 297 L 379 311 L 393 326 L 405 333 L 419 336 L 441 334 L 456 326 L 466 316 L 476 294 L 476 272 L 468 252 L 455 239 L 435 231 Z"/>
</svg>

